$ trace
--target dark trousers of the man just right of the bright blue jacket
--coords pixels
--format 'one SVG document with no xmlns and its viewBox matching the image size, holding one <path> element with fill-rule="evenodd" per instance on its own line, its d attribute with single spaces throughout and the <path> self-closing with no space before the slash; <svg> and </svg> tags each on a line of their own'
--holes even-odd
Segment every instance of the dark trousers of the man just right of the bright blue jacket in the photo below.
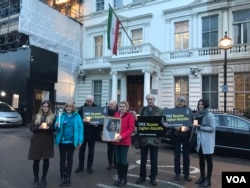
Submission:
<svg viewBox="0 0 250 188">
<path fill-rule="evenodd" d="M 91 169 L 94 161 L 95 140 L 85 139 L 79 150 L 79 167 L 84 168 L 85 151 L 88 144 L 87 169 Z"/>
</svg>

